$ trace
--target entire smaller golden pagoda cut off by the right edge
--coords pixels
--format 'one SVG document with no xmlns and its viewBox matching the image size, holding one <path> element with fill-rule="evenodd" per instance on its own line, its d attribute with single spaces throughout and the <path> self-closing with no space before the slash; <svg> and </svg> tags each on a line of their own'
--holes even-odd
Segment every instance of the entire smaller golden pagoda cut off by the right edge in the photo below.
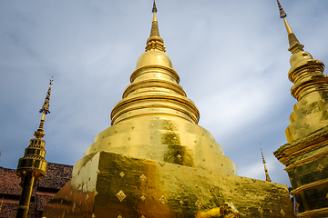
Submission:
<svg viewBox="0 0 328 218">
<path fill-rule="evenodd" d="M 298 102 L 285 132 L 288 143 L 274 155 L 286 166 L 298 217 L 328 217 L 328 76 L 323 74 L 323 62 L 303 51 L 277 3 L 292 52 L 291 93 Z"/>
</svg>

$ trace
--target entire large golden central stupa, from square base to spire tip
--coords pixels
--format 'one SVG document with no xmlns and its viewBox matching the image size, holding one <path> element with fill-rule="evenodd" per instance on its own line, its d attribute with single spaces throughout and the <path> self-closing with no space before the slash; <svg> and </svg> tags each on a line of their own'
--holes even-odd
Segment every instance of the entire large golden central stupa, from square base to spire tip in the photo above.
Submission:
<svg viewBox="0 0 328 218">
<path fill-rule="evenodd" d="M 153 20 L 112 125 L 46 204 L 55 217 L 294 217 L 285 184 L 237 175 L 179 85 Z"/>
</svg>

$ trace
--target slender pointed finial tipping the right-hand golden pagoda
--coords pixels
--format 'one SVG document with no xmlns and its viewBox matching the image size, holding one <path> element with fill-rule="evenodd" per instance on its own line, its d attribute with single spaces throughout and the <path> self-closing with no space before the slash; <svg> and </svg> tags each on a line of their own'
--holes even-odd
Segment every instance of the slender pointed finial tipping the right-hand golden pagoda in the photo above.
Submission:
<svg viewBox="0 0 328 218">
<path fill-rule="evenodd" d="M 304 47 L 304 45 L 302 45 L 296 38 L 296 35 L 294 35 L 292 33 L 292 28 L 286 20 L 287 14 L 282 9 L 282 5 L 280 4 L 279 0 L 277 0 L 277 4 L 279 7 L 279 11 L 280 11 L 280 17 L 283 19 L 283 22 L 286 26 L 286 30 L 287 30 L 287 34 L 288 34 L 288 41 L 290 44 L 290 48 L 288 50 L 290 52 L 292 52 L 292 54 L 298 53 L 298 52 L 302 51 L 302 48 Z"/>
</svg>

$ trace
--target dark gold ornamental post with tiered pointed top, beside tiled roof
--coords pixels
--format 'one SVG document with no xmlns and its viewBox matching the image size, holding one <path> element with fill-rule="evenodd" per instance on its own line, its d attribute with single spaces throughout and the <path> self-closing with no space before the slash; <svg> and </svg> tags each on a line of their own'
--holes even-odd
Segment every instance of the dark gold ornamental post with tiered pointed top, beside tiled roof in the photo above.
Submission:
<svg viewBox="0 0 328 218">
<path fill-rule="evenodd" d="M 42 113 L 42 117 L 40 125 L 34 134 L 36 138 L 30 140 L 28 147 L 26 147 L 24 156 L 19 159 L 17 164 L 16 174 L 21 177 L 20 185 L 22 186 L 22 193 L 19 199 L 16 218 L 27 217 L 32 190 L 36 187 L 36 181 L 46 174 L 46 142 L 45 140 L 42 140 L 42 138 L 45 136 L 43 129 L 45 117 L 46 114 L 50 114 L 49 101 L 52 82 L 53 79 L 51 78 L 46 93 L 45 103 L 39 111 L 39 113 Z"/>
</svg>

